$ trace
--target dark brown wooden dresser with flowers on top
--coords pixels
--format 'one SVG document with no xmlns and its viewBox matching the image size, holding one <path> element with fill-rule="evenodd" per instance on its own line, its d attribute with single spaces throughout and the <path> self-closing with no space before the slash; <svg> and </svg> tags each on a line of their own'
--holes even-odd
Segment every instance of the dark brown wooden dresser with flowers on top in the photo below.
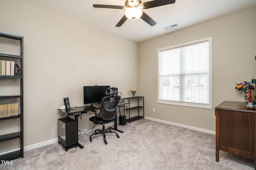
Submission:
<svg viewBox="0 0 256 170">
<path fill-rule="evenodd" d="M 224 101 L 215 107 L 217 162 L 219 150 L 255 160 L 255 114 L 244 102 Z"/>
</svg>

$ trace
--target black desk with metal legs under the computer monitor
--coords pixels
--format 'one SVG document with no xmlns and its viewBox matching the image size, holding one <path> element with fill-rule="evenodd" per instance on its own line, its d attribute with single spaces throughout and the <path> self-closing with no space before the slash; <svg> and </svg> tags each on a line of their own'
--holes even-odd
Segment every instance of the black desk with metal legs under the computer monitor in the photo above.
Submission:
<svg viewBox="0 0 256 170">
<path fill-rule="evenodd" d="M 129 103 L 125 103 L 125 102 L 119 102 L 118 103 L 118 106 L 124 106 L 126 104 L 129 104 Z M 100 109 L 100 108 L 97 108 L 97 109 Z M 75 121 L 77 122 L 77 129 L 78 129 L 78 117 L 80 114 L 82 113 L 87 113 L 87 111 L 94 111 L 96 110 L 95 107 L 93 106 L 80 106 L 80 107 L 72 107 L 71 109 L 57 109 L 58 111 L 61 111 L 63 113 L 67 113 L 68 115 L 74 115 L 75 116 Z M 120 131 L 117 129 L 117 116 L 115 118 L 115 123 L 114 123 L 114 128 L 113 127 L 110 127 L 111 129 L 115 130 L 115 131 L 118 131 L 120 133 L 124 133 L 123 131 Z M 74 133 L 77 133 L 77 132 L 74 132 Z M 62 145 L 62 147 L 64 147 Z M 80 149 L 84 148 L 80 143 L 78 143 L 78 139 L 77 139 L 77 144 L 72 146 L 72 147 L 79 147 Z M 66 150 L 67 148 L 70 148 L 70 147 L 64 147 Z"/>
</svg>

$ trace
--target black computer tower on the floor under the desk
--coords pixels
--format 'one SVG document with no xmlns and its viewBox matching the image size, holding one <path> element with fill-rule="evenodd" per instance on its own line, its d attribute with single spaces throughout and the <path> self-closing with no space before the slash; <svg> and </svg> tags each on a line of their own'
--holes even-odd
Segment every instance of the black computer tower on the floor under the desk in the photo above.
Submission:
<svg viewBox="0 0 256 170">
<path fill-rule="evenodd" d="M 58 119 L 58 140 L 65 148 L 78 144 L 78 127 L 74 119 Z"/>
</svg>

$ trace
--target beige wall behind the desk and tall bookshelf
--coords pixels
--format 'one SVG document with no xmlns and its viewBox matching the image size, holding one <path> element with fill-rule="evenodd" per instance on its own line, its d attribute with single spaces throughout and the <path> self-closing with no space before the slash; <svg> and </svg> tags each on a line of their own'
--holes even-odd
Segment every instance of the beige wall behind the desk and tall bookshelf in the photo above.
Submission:
<svg viewBox="0 0 256 170">
<path fill-rule="evenodd" d="M 65 97 L 83 106 L 83 86 L 115 86 L 132 96 L 138 43 L 25 0 L 0 1 L 0 31 L 24 36 L 24 146 L 58 137 L 57 109 Z M 79 119 L 79 130 L 93 127 L 89 118 Z M 12 123 L 1 121 L 0 135 Z"/>
</svg>

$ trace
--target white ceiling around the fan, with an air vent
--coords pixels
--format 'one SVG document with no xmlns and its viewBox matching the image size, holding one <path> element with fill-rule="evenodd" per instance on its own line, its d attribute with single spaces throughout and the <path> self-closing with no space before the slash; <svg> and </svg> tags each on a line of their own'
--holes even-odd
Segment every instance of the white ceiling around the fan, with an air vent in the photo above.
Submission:
<svg viewBox="0 0 256 170">
<path fill-rule="evenodd" d="M 144 9 L 156 25 L 150 26 L 141 18 L 126 20 L 116 27 L 125 10 L 93 8 L 93 4 L 124 6 L 126 0 L 28 0 L 66 16 L 84 21 L 106 31 L 136 42 L 142 42 L 159 35 L 189 27 L 232 12 L 256 5 L 256 0 L 176 0 L 174 4 Z M 150 0 L 142 0 L 148 2 Z M 178 27 L 165 31 L 164 27 L 177 24 Z"/>
</svg>

